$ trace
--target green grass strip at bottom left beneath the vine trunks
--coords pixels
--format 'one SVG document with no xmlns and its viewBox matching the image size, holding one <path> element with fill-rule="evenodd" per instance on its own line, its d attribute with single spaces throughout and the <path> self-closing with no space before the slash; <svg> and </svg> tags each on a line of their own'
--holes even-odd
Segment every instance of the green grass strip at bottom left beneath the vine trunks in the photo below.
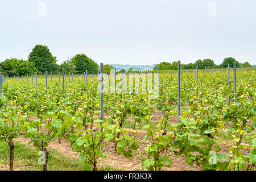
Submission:
<svg viewBox="0 0 256 182">
<path fill-rule="evenodd" d="M 20 171 L 40 171 L 42 164 L 38 164 L 40 151 L 35 147 L 27 147 L 25 144 L 15 142 L 14 168 Z M 48 171 L 90 171 L 92 165 L 81 164 L 78 159 L 69 160 L 67 156 L 56 150 L 48 150 Z M 0 142 L 0 164 L 9 165 L 9 146 L 6 142 Z M 112 166 L 99 166 L 99 170 L 117 170 Z"/>
</svg>

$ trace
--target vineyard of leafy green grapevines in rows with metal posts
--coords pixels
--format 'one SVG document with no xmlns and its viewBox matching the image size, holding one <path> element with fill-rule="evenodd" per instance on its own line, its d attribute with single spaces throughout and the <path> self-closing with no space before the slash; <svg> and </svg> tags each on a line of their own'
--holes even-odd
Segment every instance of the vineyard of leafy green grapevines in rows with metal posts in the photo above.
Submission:
<svg viewBox="0 0 256 182">
<path fill-rule="evenodd" d="M 147 83 L 158 79 L 143 74 Z M 122 82 L 131 75 L 123 73 L 116 84 L 141 92 L 126 85 L 127 92 L 102 93 L 97 74 L 5 78 L 0 145 L 9 156 L 0 153 L 0 169 L 17 169 L 20 144 L 41 152 L 32 158 L 38 163 L 43 156 L 39 170 L 51 169 L 58 146 L 88 170 L 106 164 L 119 170 L 256 169 L 254 69 L 160 72 L 155 99 L 142 92 L 142 78 L 140 85 Z"/>
</svg>

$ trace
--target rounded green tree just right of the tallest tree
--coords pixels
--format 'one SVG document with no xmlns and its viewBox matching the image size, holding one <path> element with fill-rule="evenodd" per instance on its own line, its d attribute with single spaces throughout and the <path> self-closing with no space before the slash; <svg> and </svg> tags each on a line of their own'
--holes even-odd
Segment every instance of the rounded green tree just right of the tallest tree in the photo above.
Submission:
<svg viewBox="0 0 256 182">
<path fill-rule="evenodd" d="M 75 65 L 77 73 L 84 73 L 87 69 L 89 74 L 98 73 L 99 66 L 85 54 L 77 54 L 72 57 L 71 63 Z"/>
</svg>

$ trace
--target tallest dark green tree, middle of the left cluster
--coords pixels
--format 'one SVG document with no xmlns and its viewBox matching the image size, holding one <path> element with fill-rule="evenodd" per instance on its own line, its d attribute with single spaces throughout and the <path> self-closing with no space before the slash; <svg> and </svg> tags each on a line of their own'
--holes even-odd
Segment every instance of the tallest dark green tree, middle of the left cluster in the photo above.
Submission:
<svg viewBox="0 0 256 182">
<path fill-rule="evenodd" d="M 52 56 L 47 46 L 36 45 L 30 52 L 28 61 L 34 63 L 40 73 L 56 73 L 58 70 L 56 57 Z"/>
</svg>

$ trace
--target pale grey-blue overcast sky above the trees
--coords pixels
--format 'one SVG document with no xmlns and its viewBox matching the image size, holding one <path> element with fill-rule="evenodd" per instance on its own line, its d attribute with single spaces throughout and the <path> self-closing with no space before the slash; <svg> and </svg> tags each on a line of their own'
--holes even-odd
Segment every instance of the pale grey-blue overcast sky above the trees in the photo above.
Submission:
<svg viewBox="0 0 256 182">
<path fill-rule="evenodd" d="M 255 0 L 0 0 L 0 61 L 46 45 L 57 64 L 84 53 L 98 64 L 256 64 Z"/>
</svg>

